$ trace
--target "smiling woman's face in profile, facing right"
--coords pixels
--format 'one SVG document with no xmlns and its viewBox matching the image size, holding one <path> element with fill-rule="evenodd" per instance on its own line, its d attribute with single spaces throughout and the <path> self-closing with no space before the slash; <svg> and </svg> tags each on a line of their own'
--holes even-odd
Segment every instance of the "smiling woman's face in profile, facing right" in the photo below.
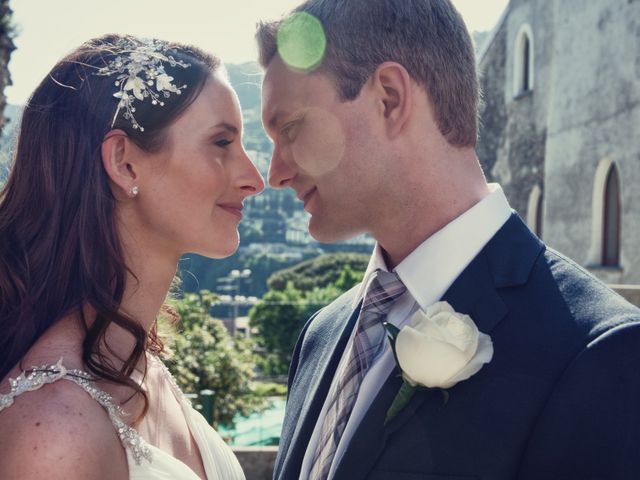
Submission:
<svg viewBox="0 0 640 480">
<path fill-rule="evenodd" d="M 143 162 L 133 203 L 149 246 L 210 258 L 236 250 L 242 202 L 264 188 L 241 136 L 237 96 L 216 74 Z"/>
</svg>

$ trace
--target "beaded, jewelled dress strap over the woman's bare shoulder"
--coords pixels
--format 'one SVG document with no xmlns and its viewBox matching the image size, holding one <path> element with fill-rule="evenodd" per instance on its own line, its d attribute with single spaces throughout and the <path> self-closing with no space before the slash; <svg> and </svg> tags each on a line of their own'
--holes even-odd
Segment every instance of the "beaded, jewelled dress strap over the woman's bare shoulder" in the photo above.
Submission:
<svg viewBox="0 0 640 480">
<path fill-rule="evenodd" d="M 28 373 L 27 373 L 28 372 Z M 25 392 L 42 388 L 44 385 L 57 380 L 69 380 L 80 386 L 91 398 L 98 402 L 109 415 L 111 423 L 118 432 L 118 437 L 125 449 L 131 452 L 135 462 L 140 465 L 142 459 L 151 461 L 151 450 L 144 439 L 135 429 L 127 425 L 122 418 L 126 413 L 116 404 L 108 393 L 96 388 L 94 378 L 82 370 L 67 370 L 62 365 L 62 358 L 55 365 L 43 365 L 33 367 L 22 372 L 17 378 L 9 379 L 11 391 L 0 394 L 0 412 L 13 404 L 14 399 Z"/>
</svg>

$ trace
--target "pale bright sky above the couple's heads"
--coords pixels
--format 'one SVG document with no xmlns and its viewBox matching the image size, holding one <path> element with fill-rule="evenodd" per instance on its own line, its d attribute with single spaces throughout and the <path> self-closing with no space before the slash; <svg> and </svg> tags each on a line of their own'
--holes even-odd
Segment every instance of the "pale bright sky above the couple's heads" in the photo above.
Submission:
<svg viewBox="0 0 640 480">
<path fill-rule="evenodd" d="M 8 102 L 21 105 L 51 67 L 85 40 L 130 33 L 191 43 L 227 63 L 257 57 L 259 20 L 280 17 L 300 0 L 11 0 L 17 29 Z M 453 0 L 470 31 L 491 30 L 508 0 Z"/>
</svg>

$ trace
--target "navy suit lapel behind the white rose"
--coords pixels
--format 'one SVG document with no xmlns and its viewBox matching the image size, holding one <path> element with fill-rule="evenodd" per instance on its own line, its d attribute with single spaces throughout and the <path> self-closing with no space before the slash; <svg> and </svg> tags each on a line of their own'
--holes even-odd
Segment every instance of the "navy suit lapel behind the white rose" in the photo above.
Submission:
<svg viewBox="0 0 640 480">
<path fill-rule="evenodd" d="M 520 218 L 512 215 L 451 285 L 442 300 L 451 304 L 455 311 L 471 316 L 481 332 L 491 334 L 507 314 L 507 307 L 498 289 L 524 283 L 542 249 L 542 243 L 529 232 Z M 386 412 L 401 384 L 402 379 L 394 370 L 354 433 L 336 468 L 335 480 L 366 477 L 383 452 L 389 435 L 400 429 L 427 399 L 438 400 L 430 402 L 436 414 L 435 409 L 442 404 L 440 392 L 421 390 L 385 426 Z M 455 389 L 455 386 L 450 389 L 451 395 L 455 395 Z"/>
</svg>

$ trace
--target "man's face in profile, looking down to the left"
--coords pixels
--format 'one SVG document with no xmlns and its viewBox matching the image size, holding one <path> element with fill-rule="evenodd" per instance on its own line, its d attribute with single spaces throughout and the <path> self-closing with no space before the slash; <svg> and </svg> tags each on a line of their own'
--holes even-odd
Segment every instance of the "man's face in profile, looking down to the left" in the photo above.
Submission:
<svg viewBox="0 0 640 480">
<path fill-rule="evenodd" d="M 290 187 L 311 214 L 309 231 L 324 242 L 371 231 L 376 169 L 375 102 L 366 89 L 343 102 L 325 74 L 291 71 L 276 56 L 262 87 L 262 121 L 274 143 L 273 188 Z"/>
</svg>

